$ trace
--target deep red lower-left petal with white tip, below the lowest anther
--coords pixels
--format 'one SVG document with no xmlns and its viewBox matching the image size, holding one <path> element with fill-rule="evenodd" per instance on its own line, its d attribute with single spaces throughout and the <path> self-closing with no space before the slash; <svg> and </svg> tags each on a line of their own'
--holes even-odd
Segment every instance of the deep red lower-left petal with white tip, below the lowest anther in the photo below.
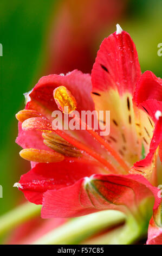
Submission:
<svg viewBox="0 0 162 256">
<path fill-rule="evenodd" d="M 19 188 L 32 203 L 42 204 L 43 193 L 70 186 L 84 176 L 103 173 L 96 161 L 83 159 L 64 160 L 58 163 L 38 163 L 21 176 Z"/>
</svg>

